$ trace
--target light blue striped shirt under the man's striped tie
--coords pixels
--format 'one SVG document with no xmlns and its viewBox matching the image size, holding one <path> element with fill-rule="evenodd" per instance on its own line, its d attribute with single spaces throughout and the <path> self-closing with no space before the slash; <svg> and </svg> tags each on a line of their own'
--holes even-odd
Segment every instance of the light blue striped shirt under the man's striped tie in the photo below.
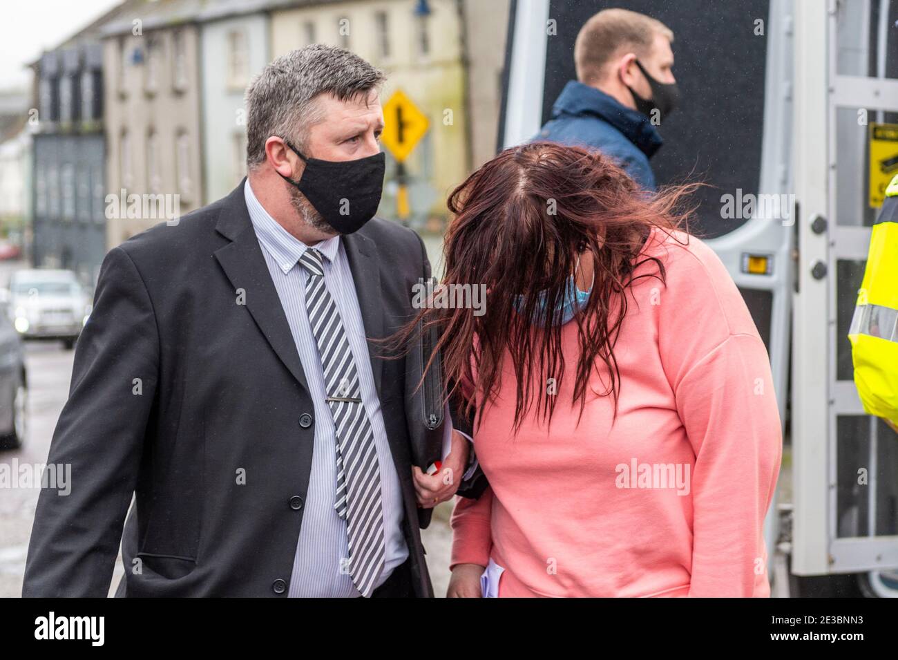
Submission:
<svg viewBox="0 0 898 660">
<path fill-rule="evenodd" d="M 321 357 L 305 308 L 306 271 L 296 263 L 307 246 L 269 216 L 253 194 L 249 179 L 243 186 L 243 195 L 271 279 L 284 306 L 296 350 L 303 363 L 315 413 L 312 472 L 305 496 L 303 526 L 296 545 L 288 595 L 291 598 L 357 596 L 359 592 L 352 584 L 352 578 L 348 573 L 340 571 L 340 559 L 348 557 L 348 537 L 346 521 L 341 520 L 334 509 L 334 496 L 337 492 L 334 424 L 324 400 L 327 395 L 324 391 Z M 402 491 L 383 425 L 381 401 L 374 387 L 374 375 L 365 342 L 365 326 L 346 252 L 339 236 L 322 241 L 314 247 L 325 257 L 324 286 L 333 297 L 343 321 L 349 348 L 356 361 L 365 411 L 374 430 L 374 445 L 381 468 L 383 538 L 386 544 L 383 573 L 376 582 L 379 586 L 390 576 L 393 568 L 400 566 L 409 556 L 409 549 L 402 535 Z"/>
</svg>

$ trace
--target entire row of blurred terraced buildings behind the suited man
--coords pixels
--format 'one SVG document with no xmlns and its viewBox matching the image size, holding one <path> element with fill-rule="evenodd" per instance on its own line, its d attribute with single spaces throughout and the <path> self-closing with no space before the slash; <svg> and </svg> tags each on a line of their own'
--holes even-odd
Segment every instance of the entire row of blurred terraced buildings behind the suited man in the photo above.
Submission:
<svg viewBox="0 0 898 660">
<path fill-rule="evenodd" d="M 405 162 L 409 224 L 441 236 L 446 196 L 495 154 L 508 4 L 126 0 L 83 31 L 92 40 L 35 65 L 48 112 L 34 145 L 35 263 L 96 277 L 105 251 L 166 210 L 224 197 L 246 172 L 252 76 L 311 43 L 365 57 L 387 74 L 382 102 L 401 90 L 427 116 Z M 392 219 L 396 165 L 388 154 L 380 214 Z"/>
</svg>

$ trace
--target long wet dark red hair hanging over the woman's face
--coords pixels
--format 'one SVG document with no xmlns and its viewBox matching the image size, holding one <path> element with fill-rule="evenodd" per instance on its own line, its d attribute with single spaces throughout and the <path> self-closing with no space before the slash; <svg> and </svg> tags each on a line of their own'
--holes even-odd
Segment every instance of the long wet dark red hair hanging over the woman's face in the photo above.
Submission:
<svg viewBox="0 0 898 660">
<path fill-rule="evenodd" d="M 574 146 L 538 142 L 506 149 L 472 173 L 448 200 L 454 214 L 445 236 L 444 285 L 484 285 L 485 313 L 426 308 L 401 331 L 407 340 L 423 319 L 439 328 L 438 347 L 453 393 L 469 407 L 480 395 L 495 400 L 503 361 L 516 379 L 515 429 L 535 402 L 551 418 L 556 397 L 545 383 L 565 377 L 561 327 L 537 328 L 539 292 L 549 310 L 563 302 L 578 255 L 594 259 L 588 303 L 574 317 L 580 355 L 574 400 L 583 412 L 587 383 L 602 365 L 610 375 L 600 396 L 615 409 L 620 372 L 614 345 L 627 313 L 625 290 L 640 277 L 665 281 L 654 257 L 640 258 L 653 227 L 686 231 L 692 208 L 684 200 L 700 184 L 647 193 L 606 156 Z M 640 268 L 647 262 L 651 268 Z M 638 273 L 637 273 L 638 269 Z M 515 297 L 525 296 L 515 310 Z M 534 316 L 535 315 L 535 316 Z M 571 321 L 571 322 L 574 322 Z M 476 373 L 476 375 L 475 375 Z M 459 388 L 471 383 L 471 388 Z"/>
</svg>

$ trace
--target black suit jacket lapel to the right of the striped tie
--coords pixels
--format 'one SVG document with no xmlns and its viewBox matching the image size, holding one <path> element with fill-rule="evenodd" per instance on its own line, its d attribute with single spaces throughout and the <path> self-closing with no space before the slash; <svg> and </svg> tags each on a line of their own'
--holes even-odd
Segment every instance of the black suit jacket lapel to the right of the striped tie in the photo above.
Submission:
<svg viewBox="0 0 898 660">
<path fill-rule="evenodd" d="M 356 284 L 358 306 L 365 324 L 365 337 L 383 339 L 383 298 L 381 295 L 381 269 L 376 259 L 374 242 L 361 233 L 350 233 L 340 239 L 349 260 L 349 270 Z M 381 347 L 368 342 L 371 357 L 371 373 L 377 396 L 381 396 L 383 358 Z"/>
</svg>

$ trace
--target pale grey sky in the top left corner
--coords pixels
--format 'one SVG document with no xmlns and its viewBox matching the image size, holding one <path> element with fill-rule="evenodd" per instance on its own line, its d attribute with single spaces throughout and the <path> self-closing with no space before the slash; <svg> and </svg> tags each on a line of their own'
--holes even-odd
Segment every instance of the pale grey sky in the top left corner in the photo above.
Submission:
<svg viewBox="0 0 898 660">
<path fill-rule="evenodd" d="M 27 87 L 24 68 L 120 0 L 5 0 L 0 10 L 0 90 Z"/>
</svg>

